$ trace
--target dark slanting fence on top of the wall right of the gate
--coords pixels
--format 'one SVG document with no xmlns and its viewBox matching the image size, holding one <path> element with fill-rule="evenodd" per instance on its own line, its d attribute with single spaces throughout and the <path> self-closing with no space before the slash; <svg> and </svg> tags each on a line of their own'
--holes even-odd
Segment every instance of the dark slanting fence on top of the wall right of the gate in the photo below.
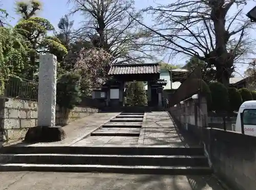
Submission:
<svg viewBox="0 0 256 190">
<path fill-rule="evenodd" d="M 198 66 L 187 76 L 175 93 L 170 96 L 169 107 L 172 107 L 180 101 L 199 93 L 202 86 L 201 78 L 201 67 Z"/>
</svg>

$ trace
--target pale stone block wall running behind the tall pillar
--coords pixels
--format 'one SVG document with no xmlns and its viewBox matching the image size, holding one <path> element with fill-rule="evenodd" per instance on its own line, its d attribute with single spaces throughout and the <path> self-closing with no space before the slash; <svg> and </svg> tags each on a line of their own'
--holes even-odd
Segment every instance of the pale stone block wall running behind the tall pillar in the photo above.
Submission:
<svg viewBox="0 0 256 190">
<path fill-rule="evenodd" d="M 17 141 L 25 137 L 29 127 L 37 125 L 37 102 L 12 98 L 0 98 L 0 141 Z M 97 113 L 97 108 L 74 107 L 63 112 L 56 106 L 56 125 L 66 125 L 79 118 Z M 67 117 L 68 116 L 68 117 Z"/>
</svg>

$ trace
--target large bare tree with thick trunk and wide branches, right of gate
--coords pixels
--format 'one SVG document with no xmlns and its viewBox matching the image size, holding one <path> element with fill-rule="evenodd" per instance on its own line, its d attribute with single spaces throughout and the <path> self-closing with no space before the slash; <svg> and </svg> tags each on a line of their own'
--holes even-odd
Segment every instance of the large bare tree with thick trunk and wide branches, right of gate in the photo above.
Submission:
<svg viewBox="0 0 256 190">
<path fill-rule="evenodd" d="M 214 65 L 218 82 L 227 86 L 234 63 L 255 44 L 248 34 L 252 25 L 242 15 L 245 4 L 245 0 L 178 0 L 142 10 L 153 15 L 153 26 L 137 21 L 151 34 L 146 45 Z M 230 15 L 231 7 L 236 9 L 235 6 L 237 12 Z"/>
</svg>

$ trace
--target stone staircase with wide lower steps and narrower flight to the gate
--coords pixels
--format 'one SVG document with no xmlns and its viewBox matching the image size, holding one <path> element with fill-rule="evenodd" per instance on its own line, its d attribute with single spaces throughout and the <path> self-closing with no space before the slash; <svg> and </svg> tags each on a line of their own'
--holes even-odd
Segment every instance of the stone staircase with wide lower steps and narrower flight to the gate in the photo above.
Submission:
<svg viewBox="0 0 256 190">
<path fill-rule="evenodd" d="M 108 172 L 167 175 L 211 174 L 202 147 L 138 145 L 144 113 L 121 113 L 77 146 L 6 146 L 0 171 Z M 134 138 L 129 144 L 91 146 L 95 137 Z M 82 140 L 83 141 L 83 140 Z"/>
</svg>

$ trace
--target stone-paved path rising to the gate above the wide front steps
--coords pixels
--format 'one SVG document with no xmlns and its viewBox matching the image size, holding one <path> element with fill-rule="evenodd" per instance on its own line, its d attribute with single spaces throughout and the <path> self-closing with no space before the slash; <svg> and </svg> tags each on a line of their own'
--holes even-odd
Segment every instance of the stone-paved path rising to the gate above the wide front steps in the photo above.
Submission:
<svg viewBox="0 0 256 190">
<path fill-rule="evenodd" d="M 128 115 L 128 114 L 127 114 Z M 104 146 L 104 145 L 167 145 L 170 147 L 185 146 L 186 143 L 181 140 L 175 125 L 167 112 L 149 112 L 145 113 L 142 122 L 116 122 L 117 119 L 126 120 L 127 118 L 118 118 L 119 115 L 106 123 L 106 128 L 98 129 L 94 133 L 105 133 L 105 136 L 87 137 L 73 146 Z M 137 118 L 128 116 L 128 120 L 136 121 Z M 141 118 L 142 120 L 142 118 Z M 113 125 L 122 127 L 111 127 Z M 141 128 L 129 128 L 130 125 L 141 126 Z M 111 128 L 109 128 L 111 127 Z M 108 137 L 107 133 L 133 133 L 140 132 L 139 137 Z M 113 134 L 114 135 L 114 134 Z"/>
</svg>

